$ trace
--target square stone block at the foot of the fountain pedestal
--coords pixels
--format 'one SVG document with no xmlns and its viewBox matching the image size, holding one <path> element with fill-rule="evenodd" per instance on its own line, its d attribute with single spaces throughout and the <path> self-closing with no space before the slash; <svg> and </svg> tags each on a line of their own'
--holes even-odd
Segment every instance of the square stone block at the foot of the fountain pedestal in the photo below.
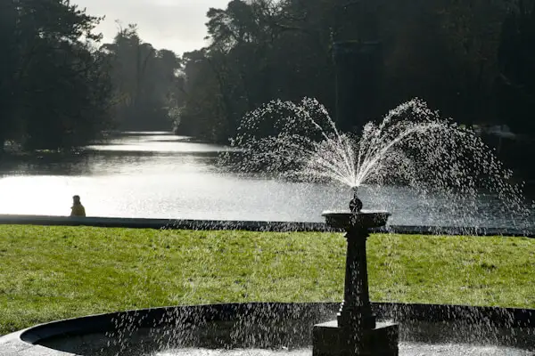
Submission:
<svg viewBox="0 0 535 356">
<path fill-rule="evenodd" d="M 350 343 L 353 332 L 339 328 L 338 321 L 317 324 L 312 329 L 312 356 L 398 356 L 399 325 L 378 322 L 365 330 L 360 345 Z M 362 351 L 359 349 L 363 349 Z"/>
</svg>

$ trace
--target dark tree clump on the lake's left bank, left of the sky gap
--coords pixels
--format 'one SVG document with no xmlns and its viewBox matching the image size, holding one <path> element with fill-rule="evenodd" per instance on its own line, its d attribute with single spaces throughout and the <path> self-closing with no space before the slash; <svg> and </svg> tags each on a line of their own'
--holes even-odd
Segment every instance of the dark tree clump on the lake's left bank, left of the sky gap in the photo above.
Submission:
<svg viewBox="0 0 535 356">
<path fill-rule="evenodd" d="M 0 18 L 0 150 L 95 138 L 110 124 L 108 66 L 89 44 L 101 19 L 60 0 L 3 0 Z"/>
</svg>

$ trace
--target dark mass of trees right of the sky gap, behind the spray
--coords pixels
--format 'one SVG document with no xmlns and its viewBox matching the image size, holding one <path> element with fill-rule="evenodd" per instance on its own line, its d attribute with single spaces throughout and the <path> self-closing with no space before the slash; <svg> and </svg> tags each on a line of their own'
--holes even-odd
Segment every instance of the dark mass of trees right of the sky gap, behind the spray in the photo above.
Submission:
<svg viewBox="0 0 535 356">
<path fill-rule="evenodd" d="M 532 0 L 232 0 L 208 18 L 210 45 L 183 57 L 177 133 L 226 142 L 245 112 L 277 98 L 315 97 L 334 115 L 333 40 L 379 40 L 380 70 L 354 93 L 366 117 L 343 127 L 417 96 L 465 125 L 535 135 Z"/>
</svg>

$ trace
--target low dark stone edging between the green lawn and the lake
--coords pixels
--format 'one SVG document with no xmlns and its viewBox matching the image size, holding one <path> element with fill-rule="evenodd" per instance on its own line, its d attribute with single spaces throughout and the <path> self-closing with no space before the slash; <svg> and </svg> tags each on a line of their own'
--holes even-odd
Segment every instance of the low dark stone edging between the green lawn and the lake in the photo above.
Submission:
<svg viewBox="0 0 535 356">
<path fill-rule="evenodd" d="M 0 224 L 46 225 L 46 226 L 95 226 L 103 228 L 161 229 L 161 230 L 238 230 L 238 231 L 317 231 L 340 232 L 325 223 L 299 222 L 254 222 L 227 220 L 181 220 L 181 219 L 144 219 L 121 217 L 85 217 L 47 215 L 0 214 Z M 469 236 L 508 236 L 535 238 L 535 227 L 530 230 L 514 228 L 484 228 L 455 226 L 408 226 L 388 225 L 374 229 L 374 232 L 418 234 L 418 235 L 469 235 Z"/>
</svg>

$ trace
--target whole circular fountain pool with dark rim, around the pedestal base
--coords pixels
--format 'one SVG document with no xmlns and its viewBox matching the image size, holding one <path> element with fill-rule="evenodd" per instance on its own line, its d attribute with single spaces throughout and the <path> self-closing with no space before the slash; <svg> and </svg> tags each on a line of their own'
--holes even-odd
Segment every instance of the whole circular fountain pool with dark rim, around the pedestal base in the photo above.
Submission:
<svg viewBox="0 0 535 356">
<path fill-rule="evenodd" d="M 335 318 L 338 307 L 248 303 L 119 312 L 0 337 L 0 350 L 9 356 L 312 355 L 313 326 Z M 535 355 L 535 311 L 393 303 L 373 309 L 378 320 L 399 323 L 399 355 Z"/>
</svg>

